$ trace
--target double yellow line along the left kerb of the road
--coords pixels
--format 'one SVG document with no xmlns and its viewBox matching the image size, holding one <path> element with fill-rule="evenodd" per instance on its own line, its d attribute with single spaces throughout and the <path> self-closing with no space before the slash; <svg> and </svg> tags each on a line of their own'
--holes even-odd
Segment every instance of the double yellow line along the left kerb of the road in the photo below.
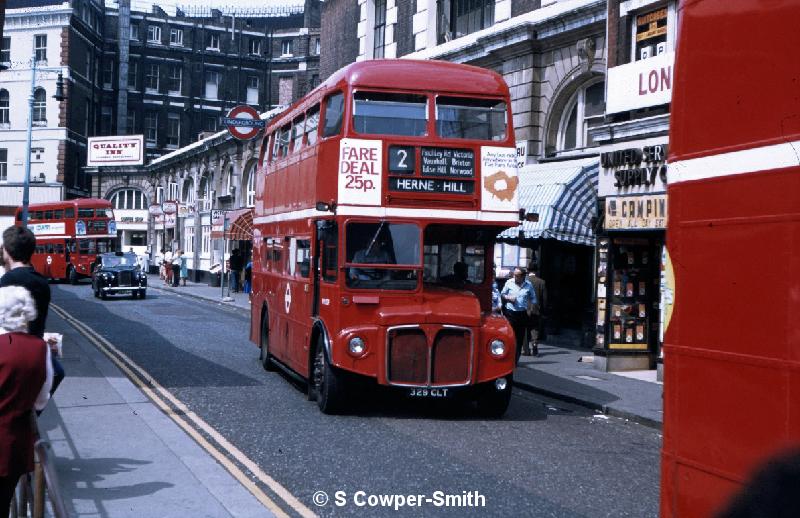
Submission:
<svg viewBox="0 0 800 518">
<path fill-rule="evenodd" d="M 228 470 L 228 472 L 239 481 L 259 502 L 269 509 L 275 516 L 288 517 L 289 515 L 279 507 L 269 496 L 267 496 L 257 484 L 242 471 L 239 466 L 231 462 L 230 457 L 244 466 L 259 482 L 267 486 L 276 496 L 286 503 L 292 510 L 304 518 L 316 516 L 314 512 L 303 505 L 293 494 L 283 487 L 274 478 L 267 475 L 258 465 L 250 460 L 236 446 L 231 444 L 225 437 L 212 428 L 208 423 L 201 419 L 170 391 L 162 387 L 144 369 L 128 358 L 125 353 L 114 347 L 111 342 L 100 336 L 91 327 L 80 320 L 72 317 L 60 306 L 51 303 L 50 308 L 58 316 L 63 318 L 68 324 L 74 327 L 80 334 L 86 337 L 90 343 L 105 354 L 125 375 L 144 392 L 144 394 L 155 403 L 170 419 L 180 426 L 189 436 L 194 439 L 205 451 L 207 451 L 217 462 Z M 211 444 L 200 432 L 205 433 L 214 440 L 219 446 Z M 223 453 L 224 452 L 224 453 Z M 227 454 L 227 455 L 226 455 Z"/>
</svg>

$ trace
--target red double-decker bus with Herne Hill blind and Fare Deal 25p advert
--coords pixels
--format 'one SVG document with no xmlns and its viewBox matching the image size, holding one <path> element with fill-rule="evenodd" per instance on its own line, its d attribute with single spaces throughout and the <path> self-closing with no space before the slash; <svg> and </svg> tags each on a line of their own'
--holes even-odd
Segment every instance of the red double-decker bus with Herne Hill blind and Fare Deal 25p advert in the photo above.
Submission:
<svg viewBox="0 0 800 518">
<path fill-rule="evenodd" d="M 354 383 L 502 415 L 513 331 L 492 314 L 495 236 L 518 224 L 508 87 L 376 60 L 276 117 L 261 149 L 251 339 L 326 413 Z"/>
</svg>

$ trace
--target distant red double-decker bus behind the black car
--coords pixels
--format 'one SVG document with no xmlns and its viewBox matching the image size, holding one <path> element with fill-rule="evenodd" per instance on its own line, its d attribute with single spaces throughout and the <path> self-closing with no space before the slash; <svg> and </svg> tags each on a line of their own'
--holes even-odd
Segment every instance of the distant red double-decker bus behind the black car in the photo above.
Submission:
<svg viewBox="0 0 800 518">
<path fill-rule="evenodd" d="M 16 210 L 15 220 L 22 224 L 22 208 Z M 31 262 L 48 279 L 74 284 L 91 275 L 97 254 L 116 251 L 117 225 L 108 200 L 81 198 L 30 205 L 28 228 L 36 235 Z"/>
</svg>

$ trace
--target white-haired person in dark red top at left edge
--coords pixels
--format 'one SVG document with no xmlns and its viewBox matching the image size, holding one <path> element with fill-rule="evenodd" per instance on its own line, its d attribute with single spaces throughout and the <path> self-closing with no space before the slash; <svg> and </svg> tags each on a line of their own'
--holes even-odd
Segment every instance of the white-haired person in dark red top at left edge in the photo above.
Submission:
<svg viewBox="0 0 800 518">
<path fill-rule="evenodd" d="M 0 288 L 0 518 L 19 478 L 33 471 L 31 411 L 45 407 L 53 381 L 50 347 L 26 332 L 36 318 L 28 290 Z"/>
</svg>

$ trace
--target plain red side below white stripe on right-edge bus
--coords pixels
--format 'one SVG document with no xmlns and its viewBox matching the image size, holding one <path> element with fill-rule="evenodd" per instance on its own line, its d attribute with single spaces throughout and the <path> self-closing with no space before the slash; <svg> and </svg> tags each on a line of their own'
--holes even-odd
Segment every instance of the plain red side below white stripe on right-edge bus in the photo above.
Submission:
<svg viewBox="0 0 800 518">
<path fill-rule="evenodd" d="M 669 187 L 662 516 L 708 516 L 800 441 L 800 170 Z"/>
</svg>

